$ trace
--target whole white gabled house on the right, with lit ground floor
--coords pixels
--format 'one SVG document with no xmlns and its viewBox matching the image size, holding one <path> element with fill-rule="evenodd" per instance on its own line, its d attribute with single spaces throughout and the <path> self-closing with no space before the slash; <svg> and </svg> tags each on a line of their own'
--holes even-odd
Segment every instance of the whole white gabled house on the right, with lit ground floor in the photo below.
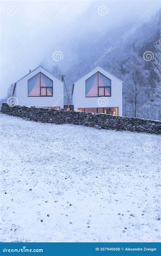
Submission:
<svg viewBox="0 0 161 256">
<path fill-rule="evenodd" d="M 96 67 L 73 84 L 75 111 L 122 116 L 122 81 Z"/>
</svg>

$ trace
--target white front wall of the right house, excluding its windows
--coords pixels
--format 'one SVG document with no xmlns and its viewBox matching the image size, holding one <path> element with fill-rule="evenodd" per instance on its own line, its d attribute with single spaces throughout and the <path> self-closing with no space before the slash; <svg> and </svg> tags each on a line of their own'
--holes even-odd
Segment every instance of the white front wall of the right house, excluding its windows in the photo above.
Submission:
<svg viewBox="0 0 161 256">
<path fill-rule="evenodd" d="M 119 115 L 122 116 L 122 82 L 100 67 L 96 67 L 74 84 L 74 110 L 77 111 L 78 108 L 101 108 L 97 102 L 100 97 L 85 97 L 85 81 L 97 71 L 111 80 L 111 97 L 106 97 L 109 103 L 105 107 L 119 107 Z"/>
</svg>

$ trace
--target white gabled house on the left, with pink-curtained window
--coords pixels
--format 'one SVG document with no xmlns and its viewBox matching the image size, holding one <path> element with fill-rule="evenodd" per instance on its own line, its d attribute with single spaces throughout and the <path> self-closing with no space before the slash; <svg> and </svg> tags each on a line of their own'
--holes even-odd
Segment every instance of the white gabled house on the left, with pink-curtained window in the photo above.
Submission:
<svg viewBox="0 0 161 256">
<path fill-rule="evenodd" d="M 18 105 L 64 108 L 64 84 L 42 66 L 19 79 L 13 89 Z"/>
</svg>

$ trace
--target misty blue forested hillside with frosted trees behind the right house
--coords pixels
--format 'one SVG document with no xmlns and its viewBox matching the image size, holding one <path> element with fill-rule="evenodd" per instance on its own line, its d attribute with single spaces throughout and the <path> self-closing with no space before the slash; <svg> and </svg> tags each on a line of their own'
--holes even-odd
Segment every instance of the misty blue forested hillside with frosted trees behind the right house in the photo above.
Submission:
<svg viewBox="0 0 161 256">
<path fill-rule="evenodd" d="M 77 61 L 66 73 L 69 92 L 71 93 L 72 84 L 76 80 L 98 65 L 123 81 L 124 116 L 158 120 L 160 99 L 155 80 L 158 81 L 159 77 L 153 64 L 156 53 L 155 44 L 160 37 L 159 20 L 160 12 L 158 11 L 143 25 L 134 24 L 132 31 L 132 24 L 123 24 L 119 30 L 117 26 L 112 26 L 106 35 L 103 34 L 97 39 L 96 45 L 89 45 L 86 52 L 79 52 Z M 79 38 L 79 50 L 84 43 L 83 37 L 84 35 L 82 40 Z M 96 63 L 97 60 L 99 61 Z M 136 72 L 138 76 L 134 77 L 137 81 L 135 88 L 132 77 Z M 68 99 L 66 100 L 68 103 Z"/>
</svg>

